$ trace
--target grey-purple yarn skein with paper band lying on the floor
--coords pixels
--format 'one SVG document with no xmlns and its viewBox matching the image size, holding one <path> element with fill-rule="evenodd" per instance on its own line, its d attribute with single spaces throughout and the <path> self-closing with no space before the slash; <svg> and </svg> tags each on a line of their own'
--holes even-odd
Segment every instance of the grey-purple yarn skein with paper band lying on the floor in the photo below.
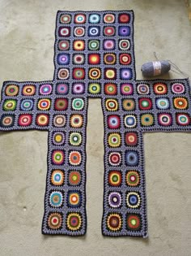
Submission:
<svg viewBox="0 0 191 256">
<path fill-rule="evenodd" d="M 167 60 L 158 61 L 161 65 L 160 71 L 156 74 L 155 73 L 155 65 L 154 62 L 144 63 L 142 64 L 142 75 L 143 76 L 159 76 L 163 75 L 171 69 L 171 64 L 168 63 Z"/>
</svg>

